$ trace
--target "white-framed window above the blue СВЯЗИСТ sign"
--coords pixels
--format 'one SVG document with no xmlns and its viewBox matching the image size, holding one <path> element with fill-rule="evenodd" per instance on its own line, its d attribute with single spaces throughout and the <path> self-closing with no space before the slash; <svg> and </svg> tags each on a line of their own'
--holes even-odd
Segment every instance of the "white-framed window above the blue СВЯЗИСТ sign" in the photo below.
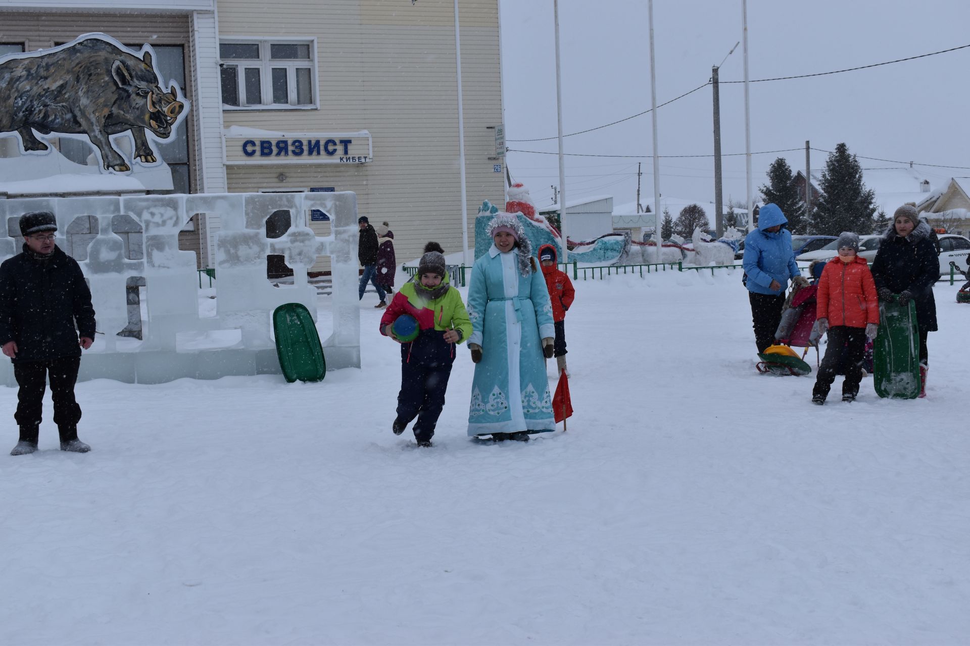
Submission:
<svg viewBox="0 0 970 646">
<path fill-rule="evenodd" d="M 225 108 L 314 108 L 316 77 L 310 41 L 221 43 Z"/>
</svg>

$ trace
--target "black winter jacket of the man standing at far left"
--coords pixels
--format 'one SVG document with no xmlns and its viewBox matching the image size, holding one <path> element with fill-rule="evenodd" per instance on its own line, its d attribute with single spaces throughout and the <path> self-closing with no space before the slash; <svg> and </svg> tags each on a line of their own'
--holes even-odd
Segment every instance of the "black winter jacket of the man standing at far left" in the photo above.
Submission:
<svg viewBox="0 0 970 646">
<path fill-rule="evenodd" d="M 16 342 L 14 363 L 81 356 L 94 339 L 94 307 L 78 261 L 54 247 L 49 259 L 23 253 L 0 264 L 0 345 Z"/>
</svg>

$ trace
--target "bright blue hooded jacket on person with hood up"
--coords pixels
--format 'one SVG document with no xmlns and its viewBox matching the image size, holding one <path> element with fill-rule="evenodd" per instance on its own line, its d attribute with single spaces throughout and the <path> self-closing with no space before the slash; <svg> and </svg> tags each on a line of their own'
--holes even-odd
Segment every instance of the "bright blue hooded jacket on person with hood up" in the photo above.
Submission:
<svg viewBox="0 0 970 646">
<path fill-rule="evenodd" d="M 800 276 L 801 271 L 794 261 L 792 233 L 782 229 L 777 233 L 764 231 L 769 227 L 788 224 L 782 209 L 774 204 L 761 207 L 758 216 L 758 231 L 751 231 L 744 238 L 744 272 L 748 274 L 746 287 L 749 292 L 780 295 L 788 288 L 790 278 Z M 776 280 L 781 290 L 771 290 L 771 281 Z"/>
</svg>

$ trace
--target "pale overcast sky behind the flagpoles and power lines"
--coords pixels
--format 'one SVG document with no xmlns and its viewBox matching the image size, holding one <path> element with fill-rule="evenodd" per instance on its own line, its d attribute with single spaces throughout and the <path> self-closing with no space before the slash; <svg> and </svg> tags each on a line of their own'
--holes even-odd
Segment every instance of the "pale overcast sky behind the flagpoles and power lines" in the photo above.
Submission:
<svg viewBox="0 0 970 646">
<path fill-rule="evenodd" d="M 645 0 L 560 0 L 564 134 L 650 108 L 650 46 Z M 556 152 L 555 36 L 552 0 L 500 0 L 505 132 L 513 150 Z M 742 40 L 741 0 L 657 0 L 657 101 L 694 89 Z M 970 45 L 966 0 L 748 0 L 749 77 L 830 72 Z M 743 44 L 721 67 L 724 196 L 744 201 Z M 804 169 L 805 140 L 833 150 L 845 141 L 860 157 L 951 165 L 921 169 L 935 185 L 970 175 L 970 48 L 824 77 L 751 83 L 753 190 L 775 158 Z M 660 154 L 711 155 L 711 87 L 658 110 Z M 611 195 L 614 204 L 652 200 L 650 114 L 565 138 L 566 153 L 642 159 L 566 157 L 566 200 Z M 553 137 L 546 141 L 515 139 Z M 812 168 L 824 153 L 812 151 Z M 559 184 L 555 155 L 509 152 L 513 179 L 539 206 Z M 860 159 L 863 168 L 893 166 Z M 714 200 L 713 159 L 661 159 L 661 194 Z M 909 187 L 903 190 L 911 190 Z"/>
</svg>

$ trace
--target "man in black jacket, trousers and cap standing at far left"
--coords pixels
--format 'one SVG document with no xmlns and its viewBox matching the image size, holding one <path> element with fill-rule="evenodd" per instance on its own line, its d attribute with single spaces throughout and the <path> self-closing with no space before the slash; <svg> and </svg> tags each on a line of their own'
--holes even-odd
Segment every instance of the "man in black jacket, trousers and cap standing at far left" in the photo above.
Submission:
<svg viewBox="0 0 970 646">
<path fill-rule="evenodd" d="M 23 252 L 0 264 L 0 346 L 14 362 L 20 386 L 14 415 L 20 440 L 11 455 L 37 450 L 48 379 L 61 450 L 91 450 L 78 439 L 81 407 L 74 385 L 81 348 L 93 343 L 94 308 L 81 267 L 54 245 L 54 231 L 52 213 L 24 214 Z"/>
</svg>

